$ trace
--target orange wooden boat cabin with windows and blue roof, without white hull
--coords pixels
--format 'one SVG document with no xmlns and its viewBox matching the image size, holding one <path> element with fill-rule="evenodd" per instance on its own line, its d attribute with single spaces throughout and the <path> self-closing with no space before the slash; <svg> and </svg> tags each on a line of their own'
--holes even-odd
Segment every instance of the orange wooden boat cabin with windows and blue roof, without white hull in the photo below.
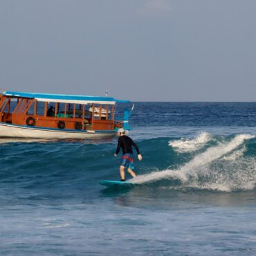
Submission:
<svg viewBox="0 0 256 256">
<path fill-rule="evenodd" d="M 116 102 L 129 101 L 4 91 L 0 94 L 0 122 L 47 129 L 115 131 L 123 127 L 122 120 L 114 120 Z"/>
</svg>

